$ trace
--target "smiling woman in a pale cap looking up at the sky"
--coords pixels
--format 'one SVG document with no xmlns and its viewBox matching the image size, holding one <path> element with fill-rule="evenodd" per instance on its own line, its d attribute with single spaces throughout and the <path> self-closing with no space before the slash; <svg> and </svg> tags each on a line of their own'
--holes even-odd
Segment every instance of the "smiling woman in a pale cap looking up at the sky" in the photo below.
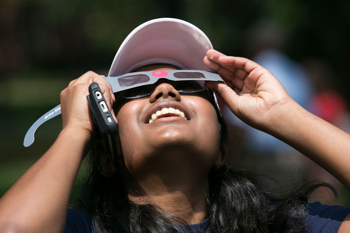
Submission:
<svg viewBox="0 0 350 233">
<path fill-rule="evenodd" d="M 211 48 L 192 24 L 149 21 L 123 42 L 109 76 L 213 70 L 225 83 L 207 81 L 206 87 L 233 114 L 293 146 L 349 189 L 350 135 L 301 108 L 265 68 Z M 92 82 L 116 114 L 125 168 L 117 170 L 108 155 L 94 150 L 80 210 L 67 215 L 80 163 L 97 144 L 86 101 Z M 311 183 L 275 197 L 250 174 L 229 169 L 225 123 L 212 91 L 180 94 L 160 79 L 147 97 L 127 101 L 113 94 L 103 75 L 87 72 L 61 92 L 61 106 L 57 140 L 0 200 L 4 232 L 342 233 L 350 227 L 349 208 L 307 203 L 315 188 L 327 184 Z M 152 117 L 169 108 L 184 116 L 165 110 Z"/>
</svg>

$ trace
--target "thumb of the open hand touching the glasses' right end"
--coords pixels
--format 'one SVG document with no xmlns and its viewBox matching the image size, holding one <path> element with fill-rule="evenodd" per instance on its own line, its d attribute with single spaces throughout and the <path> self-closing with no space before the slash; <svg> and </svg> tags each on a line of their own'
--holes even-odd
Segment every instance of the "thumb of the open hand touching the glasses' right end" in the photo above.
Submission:
<svg viewBox="0 0 350 233">
<path fill-rule="evenodd" d="M 238 101 L 237 93 L 223 82 L 207 81 L 207 87 L 218 93 L 225 104 L 236 114 L 236 105 Z"/>
</svg>

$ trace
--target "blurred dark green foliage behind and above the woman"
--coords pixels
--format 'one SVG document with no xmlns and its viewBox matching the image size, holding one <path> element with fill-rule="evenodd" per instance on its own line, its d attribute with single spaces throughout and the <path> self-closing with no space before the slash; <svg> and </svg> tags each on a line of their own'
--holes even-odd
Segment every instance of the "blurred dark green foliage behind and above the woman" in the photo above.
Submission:
<svg viewBox="0 0 350 233">
<path fill-rule="evenodd" d="M 250 57 L 247 30 L 258 20 L 285 31 L 293 59 L 325 60 L 332 85 L 346 100 L 350 63 L 350 1 L 53 1 L 3 0 L 0 8 L 0 196 L 53 143 L 59 117 L 23 137 L 34 121 L 59 103 L 59 92 L 88 70 L 107 74 L 119 45 L 139 24 L 175 17 L 195 24 L 214 48 Z M 258 36 L 258 35 L 257 35 Z"/>
</svg>

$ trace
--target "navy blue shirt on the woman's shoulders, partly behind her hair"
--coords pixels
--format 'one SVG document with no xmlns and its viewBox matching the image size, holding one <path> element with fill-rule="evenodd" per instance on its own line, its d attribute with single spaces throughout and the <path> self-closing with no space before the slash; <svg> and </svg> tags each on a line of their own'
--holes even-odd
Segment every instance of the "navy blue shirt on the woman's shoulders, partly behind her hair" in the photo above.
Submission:
<svg viewBox="0 0 350 233">
<path fill-rule="evenodd" d="M 308 210 L 308 230 L 310 233 L 337 233 L 340 224 L 350 212 L 350 207 L 322 205 L 319 202 L 304 204 Z M 65 233 L 94 233 L 92 216 L 80 210 L 69 209 Z M 194 233 L 207 228 L 208 219 L 190 225 Z"/>
</svg>

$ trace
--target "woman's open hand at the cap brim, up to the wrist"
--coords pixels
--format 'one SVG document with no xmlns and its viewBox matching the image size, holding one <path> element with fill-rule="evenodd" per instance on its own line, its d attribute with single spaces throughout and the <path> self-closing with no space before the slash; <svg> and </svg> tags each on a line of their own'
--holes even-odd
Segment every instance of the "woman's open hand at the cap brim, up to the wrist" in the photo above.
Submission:
<svg viewBox="0 0 350 233">
<path fill-rule="evenodd" d="M 218 93 L 238 118 L 254 128 L 268 131 L 279 112 L 288 111 L 293 105 L 288 104 L 294 101 L 273 74 L 251 60 L 208 50 L 204 64 L 220 74 L 227 84 L 208 81 L 207 87 Z"/>
</svg>

